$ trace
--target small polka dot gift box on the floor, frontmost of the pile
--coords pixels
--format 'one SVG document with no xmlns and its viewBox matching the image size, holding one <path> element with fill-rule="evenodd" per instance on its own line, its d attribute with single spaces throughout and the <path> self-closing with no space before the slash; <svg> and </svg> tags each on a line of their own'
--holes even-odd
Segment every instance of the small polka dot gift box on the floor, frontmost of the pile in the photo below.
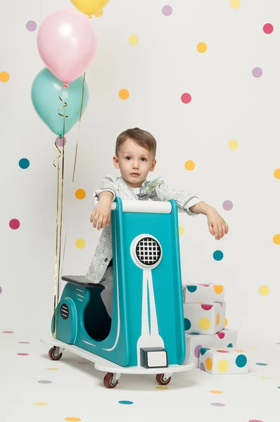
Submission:
<svg viewBox="0 0 280 422">
<path fill-rule="evenodd" d="M 248 373 L 247 353 L 231 347 L 201 347 L 199 367 L 212 375 Z"/>
</svg>

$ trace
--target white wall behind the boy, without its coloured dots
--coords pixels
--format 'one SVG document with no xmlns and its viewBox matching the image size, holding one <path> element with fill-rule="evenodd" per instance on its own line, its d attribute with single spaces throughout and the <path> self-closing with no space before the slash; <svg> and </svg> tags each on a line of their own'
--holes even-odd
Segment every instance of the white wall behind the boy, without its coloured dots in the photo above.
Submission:
<svg viewBox="0 0 280 422">
<path fill-rule="evenodd" d="M 77 125 L 66 135 L 64 274 L 85 274 L 100 236 L 89 216 L 92 191 L 106 174 L 118 176 L 112 157 L 117 134 L 129 127 L 158 141 L 160 174 L 172 188 L 195 193 L 229 224 L 215 241 L 207 218 L 180 215 L 183 282 L 221 283 L 229 328 L 279 338 L 280 167 L 279 4 L 243 0 L 111 0 L 93 17 L 98 53 L 87 71 L 89 104 L 82 117 L 74 191 L 71 187 Z M 1 331 L 49 333 L 53 310 L 56 229 L 54 135 L 35 113 L 30 89 L 44 63 L 37 51 L 37 23 L 68 0 L 4 2 L 1 6 Z M 274 31 L 263 25 L 273 21 Z M 139 43 L 129 44 L 136 34 Z M 199 53 L 197 44 L 207 45 Z M 261 77 L 253 73 L 262 69 Z M 260 72 L 260 70 L 259 70 Z M 0 75 L 1 76 L 1 75 Z M 2 74 L 3 77 L 3 74 Z M 119 91 L 127 89 L 122 100 Z M 191 94 L 191 102 L 181 96 Z M 238 141 L 231 150 L 229 141 Z M 23 170 L 22 158 L 30 161 Z M 185 162 L 193 160 L 189 171 Z M 277 173 L 276 173 L 277 175 Z M 278 176 L 279 177 L 279 176 Z M 233 208 L 224 210 L 224 201 Z M 11 219 L 20 228 L 9 226 Z M 82 238 L 86 246 L 78 249 Z M 274 239 L 274 241 L 273 241 Z M 221 250 L 217 261 L 213 253 Z M 268 286 L 269 293 L 259 289 Z M 262 290 L 261 290 L 262 291 Z"/>
</svg>

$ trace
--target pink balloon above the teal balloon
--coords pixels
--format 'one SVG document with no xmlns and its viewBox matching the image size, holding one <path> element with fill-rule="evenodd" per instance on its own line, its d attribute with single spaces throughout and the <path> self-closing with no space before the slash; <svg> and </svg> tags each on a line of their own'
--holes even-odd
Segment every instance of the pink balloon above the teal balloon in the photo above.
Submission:
<svg viewBox="0 0 280 422">
<path fill-rule="evenodd" d="M 96 33 L 87 15 L 63 9 L 39 27 L 37 46 L 46 67 L 68 84 L 81 76 L 96 54 Z"/>
</svg>

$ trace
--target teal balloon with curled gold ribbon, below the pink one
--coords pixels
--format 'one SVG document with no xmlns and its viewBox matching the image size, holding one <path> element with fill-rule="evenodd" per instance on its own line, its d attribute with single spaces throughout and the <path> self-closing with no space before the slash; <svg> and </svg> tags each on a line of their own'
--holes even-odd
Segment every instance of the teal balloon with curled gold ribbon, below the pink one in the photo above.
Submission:
<svg viewBox="0 0 280 422">
<path fill-rule="evenodd" d="M 75 123 L 79 120 L 79 114 L 82 103 L 82 86 L 83 77 L 79 77 L 68 84 L 68 88 L 63 87 L 64 83 L 55 77 L 47 68 L 41 70 L 35 77 L 32 84 L 31 96 L 34 109 L 37 111 L 39 117 L 56 135 L 63 135 L 63 120 L 65 117 L 65 132 L 67 134 Z M 61 89 L 61 87 L 63 87 Z M 61 90 L 61 91 L 60 91 Z M 59 96 L 67 103 L 65 106 Z M 84 81 L 84 97 L 82 113 L 87 108 L 89 101 L 89 88 L 87 82 Z M 59 110 L 61 108 L 61 110 Z"/>
</svg>

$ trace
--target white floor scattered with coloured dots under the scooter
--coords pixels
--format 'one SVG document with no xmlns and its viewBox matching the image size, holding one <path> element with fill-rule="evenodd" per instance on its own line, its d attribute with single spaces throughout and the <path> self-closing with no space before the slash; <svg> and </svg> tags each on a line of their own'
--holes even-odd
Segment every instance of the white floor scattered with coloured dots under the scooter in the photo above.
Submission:
<svg viewBox="0 0 280 422">
<path fill-rule="evenodd" d="M 174 374 L 167 387 L 154 376 L 122 375 L 113 390 L 103 387 L 105 373 L 70 352 L 49 360 L 39 338 L 0 333 L 0 344 L 1 422 L 280 421 L 280 343 L 274 341 L 239 334 L 248 375 L 194 369 Z"/>
</svg>

